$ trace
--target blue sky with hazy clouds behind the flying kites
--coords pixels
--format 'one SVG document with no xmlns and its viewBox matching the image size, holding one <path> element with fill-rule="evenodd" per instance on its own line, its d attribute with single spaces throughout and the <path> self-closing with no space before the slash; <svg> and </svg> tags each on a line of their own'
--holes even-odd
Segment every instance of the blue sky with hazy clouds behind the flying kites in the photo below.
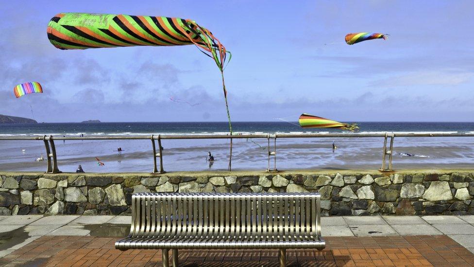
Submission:
<svg viewBox="0 0 474 267">
<path fill-rule="evenodd" d="M 0 5 L 0 114 L 49 123 L 227 120 L 220 71 L 195 46 L 51 45 L 55 14 L 85 12 L 191 18 L 212 31 L 232 52 L 224 76 L 233 121 L 310 113 L 473 122 L 472 10 L 471 0 L 8 1 Z M 354 32 L 390 36 L 345 44 Z M 16 99 L 13 88 L 32 81 L 44 93 Z"/>
</svg>

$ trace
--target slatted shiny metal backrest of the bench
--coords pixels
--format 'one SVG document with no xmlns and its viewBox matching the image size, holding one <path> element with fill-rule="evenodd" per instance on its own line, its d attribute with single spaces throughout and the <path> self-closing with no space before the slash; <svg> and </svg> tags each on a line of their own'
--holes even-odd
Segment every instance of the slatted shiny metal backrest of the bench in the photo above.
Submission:
<svg viewBox="0 0 474 267">
<path fill-rule="evenodd" d="M 321 237 L 320 194 L 139 193 L 130 235 Z"/>
</svg>

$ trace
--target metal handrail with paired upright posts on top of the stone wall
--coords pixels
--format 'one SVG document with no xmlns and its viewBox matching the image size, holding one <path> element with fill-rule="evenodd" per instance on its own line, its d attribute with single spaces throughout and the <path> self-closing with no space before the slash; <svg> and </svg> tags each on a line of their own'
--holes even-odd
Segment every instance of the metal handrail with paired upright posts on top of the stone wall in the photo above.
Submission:
<svg viewBox="0 0 474 267">
<path fill-rule="evenodd" d="M 395 137 L 474 137 L 474 132 L 471 133 L 266 133 L 266 134 L 158 134 L 158 135 L 140 135 L 140 136 L 114 136 L 114 135 L 97 135 L 97 136 L 85 136 L 85 137 L 54 137 L 50 136 L 1 136 L 0 141 L 21 141 L 21 140 L 41 140 L 44 141 L 46 147 L 46 155 L 48 160 L 47 173 L 59 173 L 56 150 L 54 148 L 53 140 L 151 140 L 152 151 L 153 151 L 153 173 L 165 173 L 163 169 L 163 147 L 161 146 L 162 140 L 185 140 L 185 139 L 248 139 L 248 138 L 261 138 L 268 140 L 268 168 L 267 171 L 277 171 L 276 169 L 276 139 L 277 138 L 362 138 L 362 137 L 383 137 L 384 146 L 382 152 L 382 167 L 380 171 L 391 171 L 392 170 L 392 153 L 393 153 L 393 140 Z M 389 148 L 387 148 L 387 141 L 390 139 Z M 274 141 L 273 149 L 270 150 L 270 140 Z M 156 153 L 155 140 L 158 140 L 158 153 Z M 48 143 L 49 142 L 49 143 Z M 232 146 L 232 142 L 231 142 Z M 51 149 L 50 149 L 51 148 Z M 232 148 L 231 148 L 232 153 Z M 274 157 L 274 167 L 270 169 L 270 157 Z M 389 159 L 388 167 L 386 166 L 386 158 Z M 157 160 L 160 158 L 160 171 L 158 172 Z M 229 160 L 231 160 L 232 154 Z M 229 164 L 229 171 L 231 165 Z"/>
</svg>

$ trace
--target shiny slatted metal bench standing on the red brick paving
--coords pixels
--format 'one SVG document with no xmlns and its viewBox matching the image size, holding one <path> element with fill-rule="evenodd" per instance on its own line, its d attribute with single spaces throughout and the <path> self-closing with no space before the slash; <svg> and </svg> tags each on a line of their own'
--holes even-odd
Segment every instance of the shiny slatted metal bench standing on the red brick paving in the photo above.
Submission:
<svg viewBox="0 0 474 267">
<path fill-rule="evenodd" d="M 132 226 L 120 250 L 162 249 L 178 266 L 178 249 L 324 249 L 320 194 L 155 194 L 132 196 Z"/>
</svg>

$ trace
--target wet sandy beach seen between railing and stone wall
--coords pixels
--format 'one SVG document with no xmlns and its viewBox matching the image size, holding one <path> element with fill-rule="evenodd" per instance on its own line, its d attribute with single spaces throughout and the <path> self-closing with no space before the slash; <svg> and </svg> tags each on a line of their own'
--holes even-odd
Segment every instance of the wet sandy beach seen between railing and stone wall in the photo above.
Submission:
<svg viewBox="0 0 474 267">
<path fill-rule="evenodd" d="M 252 142 L 253 141 L 253 142 Z M 265 170 L 268 167 L 267 141 L 234 140 L 233 170 Z M 333 151 L 332 142 L 338 148 Z M 44 171 L 46 161 L 40 141 L 3 141 L 0 150 L 2 171 Z M 122 155 L 115 151 L 120 146 Z M 383 138 L 279 139 L 277 169 L 378 169 L 382 163 Z M 229 141 L 166 140 L 163 142 L 166 171 L 226 170 Z M 25 152 L 22 152 L 25 149 Z M 74 172 L 81 164 L 86 172 L 150 172 L 151 142 L 142 141 L 66 141 L 56 142 L 58 164 L 64 172 Z M 271 150 L 273 143 L 271 142 Z M 397 138 L 394 142 L 395 169 L 468 169 L 474 164 L 474 138 Z M 207 152 L 215 157 L 212 164 Z M 399 153 L 426 157 L 406 157 Z M 104 166 L 99 166 L 98 157 Z M 271 158 L 273 168 L 273 158 Z"/>
</svg>

